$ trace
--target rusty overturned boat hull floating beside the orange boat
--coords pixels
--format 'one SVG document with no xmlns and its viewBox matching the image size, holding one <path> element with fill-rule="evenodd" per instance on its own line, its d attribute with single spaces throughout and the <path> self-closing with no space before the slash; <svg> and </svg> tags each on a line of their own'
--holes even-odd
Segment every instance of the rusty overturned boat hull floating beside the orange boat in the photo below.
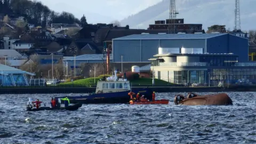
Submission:
<svg viewBox="0 0 256 144">
<path fill-rule="evenodd" d="M 226 93 L 218 93 L 211 95 L 197 95 L 189 93 L 185 98 L 183 95 L 176 95 L 174 98 L 175 105 L 233 105 L 233 101 Z"/>
</svg>

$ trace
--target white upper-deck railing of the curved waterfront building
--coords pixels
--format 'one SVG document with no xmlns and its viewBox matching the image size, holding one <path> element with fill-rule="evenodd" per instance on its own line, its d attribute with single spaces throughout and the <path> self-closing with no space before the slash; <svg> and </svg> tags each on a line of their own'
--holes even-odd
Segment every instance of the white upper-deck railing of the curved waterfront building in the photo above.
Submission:
<svg viewBox="0 0 256 144">
<path fill-rule="evenodd" d="M 202 67 L 206 62 L 159 62 L 160 67 Z"/>
</svg>

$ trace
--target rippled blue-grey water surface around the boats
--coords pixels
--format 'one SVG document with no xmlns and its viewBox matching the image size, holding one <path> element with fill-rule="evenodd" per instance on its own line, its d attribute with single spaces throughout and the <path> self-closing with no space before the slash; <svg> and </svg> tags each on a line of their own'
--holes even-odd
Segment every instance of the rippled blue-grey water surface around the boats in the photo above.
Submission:
<svg viewBox="0 0 256 144">
<path fill-rule="evenodd" d="M 157 93 L 169 105 L 30 112 L 28 97 L 61 94 L 0 95 L 0 143 L 256 143 L 256 93 L 228 93 L 233 106 L 175 106 L 175 94 Z"/>
</svg>

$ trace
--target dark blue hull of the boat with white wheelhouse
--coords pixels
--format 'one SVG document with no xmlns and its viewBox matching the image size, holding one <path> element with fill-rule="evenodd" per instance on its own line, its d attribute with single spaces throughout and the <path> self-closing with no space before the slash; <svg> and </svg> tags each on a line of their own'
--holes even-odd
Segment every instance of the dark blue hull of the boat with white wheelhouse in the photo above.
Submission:
<svg viewBox="0 0 256 144">
<path fill-rule="evenodd" d="M 130 96 L 128 95 L 130 91 L 121 91 L 121 92 L 110 92 L 110 93 L 98 93 L 92 95 L 80 95 L 80 96 L 71 96 L 68 97 L 70 103 L 83 103 L 83 104 L 97 104 L 97 103 L 129 103 Z M 149 89 L 138 89 L 132 90 L 134 93 L 140 93 L 140 95 L 145 95 L 149 100 L 152 100 L 152 91 Z M 65 96 L 64 96 L 65 97 Z M 58 98 L 55 99 L 58 101 Z M 136 97 L 134 95 L 133 97 Z"/>
</svg>

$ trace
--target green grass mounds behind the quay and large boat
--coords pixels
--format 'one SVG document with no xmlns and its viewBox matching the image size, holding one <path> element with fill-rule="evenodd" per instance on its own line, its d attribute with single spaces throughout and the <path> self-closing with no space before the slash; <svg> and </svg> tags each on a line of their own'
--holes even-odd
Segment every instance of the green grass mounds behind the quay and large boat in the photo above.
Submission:
<svg viewBox="0 0 256 144">
<path fill-rule="evenodd" d="M 94 84 L 94 77 L 79 79 L 73 82 L 73 85 L 81 85 L 81 86 L 90 86 L 96 85 L 99 79 L 102 77 L 95 77 L 95 84 Z M 137 80 L 131 81 L 132 85 L 151 85 L 152 78 L 139 78 Z M 61 83 L 60 85 L 72 85 L 72 82 Z M 168 83 L 161 79 L 155 79 L 155 85 L 174 85 L 172 83 Z"/>
</svg>

